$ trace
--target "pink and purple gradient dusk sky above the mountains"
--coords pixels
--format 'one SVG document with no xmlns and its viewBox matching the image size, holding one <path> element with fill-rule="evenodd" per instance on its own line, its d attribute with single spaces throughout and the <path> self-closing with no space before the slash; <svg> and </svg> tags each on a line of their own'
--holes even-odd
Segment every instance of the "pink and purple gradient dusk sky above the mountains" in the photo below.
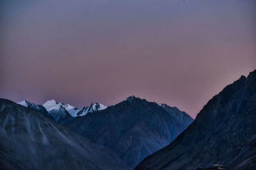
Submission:
<svg viewBox="0 0 256 170">
<path fill-rule="evenodd" d="M 255 0 L 4 0 L 0 14 L 0 97 L 15 102 L 135 95 L 195 118 L 256 69 Z"/>
</svg>

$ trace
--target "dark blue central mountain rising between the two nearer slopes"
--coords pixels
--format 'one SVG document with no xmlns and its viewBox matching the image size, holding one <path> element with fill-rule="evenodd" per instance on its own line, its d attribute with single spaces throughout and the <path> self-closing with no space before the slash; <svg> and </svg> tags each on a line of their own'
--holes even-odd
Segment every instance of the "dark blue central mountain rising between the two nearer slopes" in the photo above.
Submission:
<svg viewBox="0 0 256 170">
<path fill-rule="evenodd" d="M 40 108 L 36 104 L 24 106 Z M 77 112 L 77 117 L 71 117 L 63 107 L 53 105 L 52 108 L 56 110 L 49 110 L 47 116 L 52 116 L 60 124 L 93 143 L 106 146 L 131 167 L 135 167 L 151 153 L 170 144 L 193 122 L 189 115 L 175 107 L 150 103 L 134 96 L 127 97 L 125 101 L 108 108 L 93 103 Z M 84 115 L 86 110 L 93 111 Z"/>
</svg>

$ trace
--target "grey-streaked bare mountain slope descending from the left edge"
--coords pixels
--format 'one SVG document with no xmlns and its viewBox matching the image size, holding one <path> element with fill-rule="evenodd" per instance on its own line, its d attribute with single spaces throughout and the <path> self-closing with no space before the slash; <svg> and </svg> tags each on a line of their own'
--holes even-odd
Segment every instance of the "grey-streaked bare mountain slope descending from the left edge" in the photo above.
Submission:
<svg viewBox="0 0 256 170">
<path fill-rule="evenodd" d="M 104 146 L 42 113 L 0 99 L 0 169 L 131 168 Z"/>
</svg>

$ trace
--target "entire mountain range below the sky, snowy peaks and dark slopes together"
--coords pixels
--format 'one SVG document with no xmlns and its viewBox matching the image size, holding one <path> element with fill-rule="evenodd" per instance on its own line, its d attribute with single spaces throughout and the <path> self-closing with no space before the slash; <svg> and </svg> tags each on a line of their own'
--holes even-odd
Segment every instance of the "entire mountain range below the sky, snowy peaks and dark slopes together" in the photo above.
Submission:
<svg viewBox="0 0 256 170">
<path fill-rule="evenodd" d="M 195 121 L 135 96 L 81 109 L 0 99 L 0 138 L 0 169 L 255 169 L 256 71 Z"/>
</svg>

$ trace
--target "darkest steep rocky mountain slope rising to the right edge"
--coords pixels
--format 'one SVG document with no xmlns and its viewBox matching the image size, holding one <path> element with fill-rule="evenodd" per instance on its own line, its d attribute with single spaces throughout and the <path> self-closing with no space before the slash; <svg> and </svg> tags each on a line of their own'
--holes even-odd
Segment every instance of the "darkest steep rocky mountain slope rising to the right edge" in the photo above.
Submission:
<svg viewBox="0 0 256 170">
<path fill-rule="evenodd" d="M 136 169 L 256 169 L 256 70 L 214 96 L 170 145 Z"/>
</svg>

